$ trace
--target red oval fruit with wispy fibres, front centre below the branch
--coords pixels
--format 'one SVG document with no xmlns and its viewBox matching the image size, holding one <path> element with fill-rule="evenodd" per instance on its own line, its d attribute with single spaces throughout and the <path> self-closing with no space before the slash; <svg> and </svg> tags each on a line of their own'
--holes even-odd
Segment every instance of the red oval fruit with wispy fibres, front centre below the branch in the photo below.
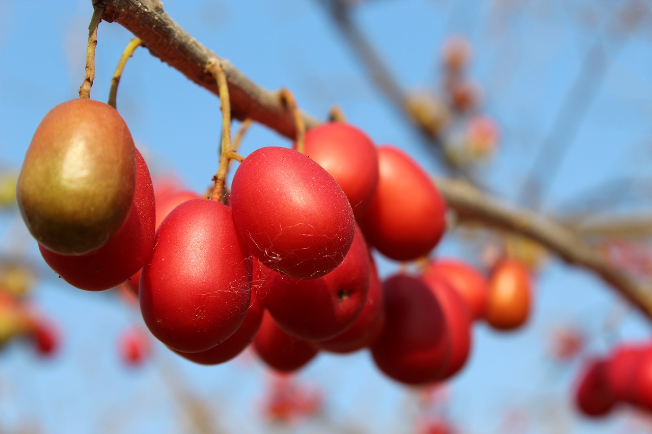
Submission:
<svg viewBox="0 0 652 434">
<path fill-rule="evenodd" d="M 296 279 L 328 274 L 353 242 L 353 210 L 323 167 L 282 147 L 263 147 L 235 171 L 233 218 L 253 255 Z"/>
</svg>

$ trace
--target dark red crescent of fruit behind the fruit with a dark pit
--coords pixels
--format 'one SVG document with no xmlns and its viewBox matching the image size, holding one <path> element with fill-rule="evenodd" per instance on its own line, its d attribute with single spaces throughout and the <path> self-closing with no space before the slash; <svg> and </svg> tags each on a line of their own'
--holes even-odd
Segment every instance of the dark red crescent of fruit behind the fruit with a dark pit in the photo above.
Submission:
<svg viewBox="0 0 652 434">
<path fill-rule="evenodd" d="M 371 257 L 370 257 L 371 258 Z M 319 341 L 315 346 L 331 353 L 353 353 L 371 347 L 378 341 L 385 327 L 385 299 L 376 269 L 376 263 L 370 259 L 369 293 L 363 311 L 353 325 L 326 341 Z"/>
</svg>

